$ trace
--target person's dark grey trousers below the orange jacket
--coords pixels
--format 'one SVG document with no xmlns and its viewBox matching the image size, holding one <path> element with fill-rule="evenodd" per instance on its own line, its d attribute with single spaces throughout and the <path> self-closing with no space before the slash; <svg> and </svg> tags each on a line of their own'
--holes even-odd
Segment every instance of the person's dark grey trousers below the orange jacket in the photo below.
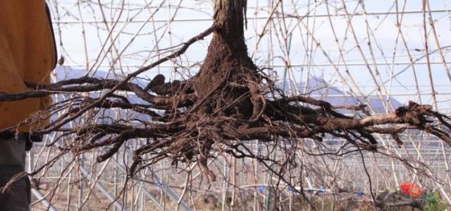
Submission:
<svg viewBox="0 0 451 211">
<path fill-rule="evenodd" d="M 24 171 L 25 136 L 0 139 L 0 210 L 30 210 L 30 183 L 27 177 L 4 188 L 11 178 Z M 5 189 L 5 190 L 4 190 Z"/>
</svg>

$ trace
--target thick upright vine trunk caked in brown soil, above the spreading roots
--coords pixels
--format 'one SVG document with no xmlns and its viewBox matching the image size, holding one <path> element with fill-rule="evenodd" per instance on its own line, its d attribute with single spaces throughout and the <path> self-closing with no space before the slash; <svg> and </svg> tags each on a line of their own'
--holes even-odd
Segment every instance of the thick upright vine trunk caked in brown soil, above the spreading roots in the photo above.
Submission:
<svg viewBox="0 0 451 211">
<path fill-rule="evenodd" d="M 257 68 L 247 55 L 244 38 L 244 4 L 242 0 L 216 1 L 214 22 L 218 29 L 214 32 L 202 68 L 193 78 L 197 96 L 200 99 L 208 97 L 211 100 L 206 102 L 208 106 L 201 109 L 205 114 L 211 114 L 223 107 L 226 102 L 233 102 L 237 97 L 249 92 L 249 83 L 260 83 L 259 77 L 254 74 Z M 230 82 L 233 82 L 233 85 Z M 215 92 L 226 87 L 231 91 L 227 95 Z M 245 97 L 235 106 L 226 109 L 225 113 L 250 118 L 252 102 L 249 97 Z"/>
</svg>

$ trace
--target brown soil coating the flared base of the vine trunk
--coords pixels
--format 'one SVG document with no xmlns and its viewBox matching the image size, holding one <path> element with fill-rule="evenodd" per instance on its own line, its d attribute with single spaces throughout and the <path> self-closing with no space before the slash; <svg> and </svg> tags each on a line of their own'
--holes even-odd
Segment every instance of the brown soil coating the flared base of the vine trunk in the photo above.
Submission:
<svg viewBox="0 0 451 211">
<path fill-rule="evenodd" d="M 217 16 L 221 16 L 219 14 L 222 13 Z M 222 15 L 226 16 L 225 13 Z M 199 100 L 205 101 L 199 114 L 203 116 L 216 112 L 218 115 L 249 119 L 252 116 L 249 85 L 259 85 L 261 76 L 247 56 L 242 23 L 228 20 L 227 24 L 221 25 L 223 27 L 214 32 L 202 68 L 192 78 L 194 92 Z"/>
</svg>

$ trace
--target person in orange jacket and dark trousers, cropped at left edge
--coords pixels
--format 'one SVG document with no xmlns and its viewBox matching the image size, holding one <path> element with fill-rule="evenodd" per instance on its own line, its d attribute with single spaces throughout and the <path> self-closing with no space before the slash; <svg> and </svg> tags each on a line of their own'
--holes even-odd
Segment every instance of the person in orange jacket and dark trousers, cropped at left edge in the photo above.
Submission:
<svg viewBox="0 0 451 211">
<path fill-rule="evenodd" d="M 55 65 L 56 46 L 45 1 L 0 1 L 0 94 L 48 84 Z M 24 120 L 50 103 L 49 97 L 0 102 L 0 210 L 30 210 L 26 177 L 4 186 L 25 171 L 25 150 L 30 150 L 31 141 L 42 140 L 30 131 L 45 122 L 23 124 Z"/>
</svg>

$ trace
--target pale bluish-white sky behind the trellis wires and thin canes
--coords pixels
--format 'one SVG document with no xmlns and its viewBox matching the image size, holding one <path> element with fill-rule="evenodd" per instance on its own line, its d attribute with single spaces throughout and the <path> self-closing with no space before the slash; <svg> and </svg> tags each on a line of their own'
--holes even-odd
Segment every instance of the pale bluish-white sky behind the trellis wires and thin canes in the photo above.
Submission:
<svg viewBox="0 0 451 211">
<path fill-rule="evenodd" d="M 212 23 L 211 2 L 205 0 L 109 0 L 100 1 L 102 10 L 97 2 L 49 1 L 58 54 L 65 57 L 66 66 L 89 69 L 89 74 L 94 74 L 95 70 L 111 71 L 121 77 L 159 59 L 162 51 L 183 43 Z M 327 1 L 328 4 L 319 0 L 277 2 L 248 0 L 245 39 L 249 55 L 254 54 L 257 66 L 273 68 L 278 80 L 282 80 L 288 70 L 288 78 L 295 83 L 311 77 L 323 78 L 345 95 L 391 95 L 400 102 L 433 102 L 420 0 L 408 0 L 405 7 L 404 1 L 397 1 L 398 11 L 406 11 L 400 22 L 402 37 L 397 28 L 401 15 L 396 13 L 395 0 L 368 0 L 363 1 L 363 6 L 349 0 Z M 275 4 L 277 7 L 273 9 Z M 427 24 L 429 52 L 435 52 L 429 56 L 431 75 L 435 92 L 438 92 L 438 108 L 450 111 L 451 80 L 446 73 L 451 66 L 451 11 L 448 12 L 451 1 L 434 0 L 429 4 L 426 11 L 432 11 L 438 44 L 445 61 L 450 61 L 445 69 Z M 162 7 L 156 10 L 160 5 Z M 345 15 L 343 5 L 350 16 Z M 121 13 L 122 6 L 125 10 Z M 333 14 L 330 19 L 327 8 Z M 288 17 L 281 18 L 283 13 Z M 272 19 L 268 22 L 269 14 Z M 306 14 L 309 16 L 304 17 Z M 111 33 L 106 30 L 103 17 L 108 20 L 108 28 L 114 28 Z M 426 23 L 429 23 L 428 18 L 426 13 Z M 111 20 L 121 21 L 114 24 Z M 352 23 L 352 28 L 348 23 Z M 262 32 L 264 36 L 259 40 Z M 202 64 L 210 39 L 211 36 L 193 44 L 176 61 L 166 62 L 141 77 L 152 78 L 163 73 L 166 78 L 180 79 L 194 75 Z M 111 40 L 114 47 L 107 51 Z M 106 47 L 102 48 L 105 43 Z M 409 54 L 415 61 L 413 67 Z M 285 66 L 287 63 L 289 68 Z M 384 84 L 380 92 L 376 91 L 378 84 Z M 416 95 L 416 84 L 421 99 Z M 297 91 L 303 92 L 302 88 Z"/>
</svg>

